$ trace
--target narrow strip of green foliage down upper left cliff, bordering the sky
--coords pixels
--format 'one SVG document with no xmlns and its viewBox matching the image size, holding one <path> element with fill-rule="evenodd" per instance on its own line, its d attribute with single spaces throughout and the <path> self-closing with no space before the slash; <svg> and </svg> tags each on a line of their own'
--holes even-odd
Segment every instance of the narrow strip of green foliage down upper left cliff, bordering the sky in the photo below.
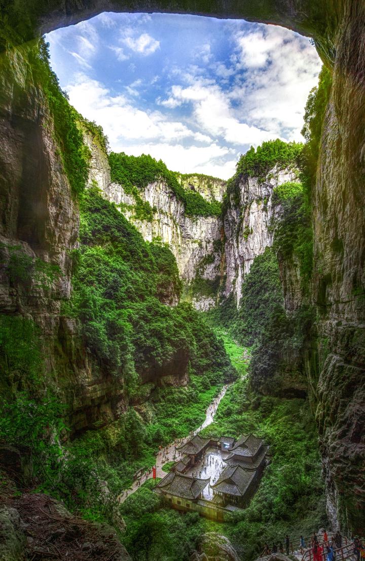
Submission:
<svg viewBox="0 0 365 561">
<path fill-rule="evenodd" d="M 78 128 L 78 113 L 68 103 L 67 95 L 60 89 L 58 78 L 49 66 L 49 44 L 43 39 L 35 50 L 35 76 L 48 101 L 53 117 L 56 140 L 60 157 L 71 185 L 72 193 L 79 197 L 85 188 L 90 162 L 90 151 L 83 143 L 82 132 Z"/>
</svg>

